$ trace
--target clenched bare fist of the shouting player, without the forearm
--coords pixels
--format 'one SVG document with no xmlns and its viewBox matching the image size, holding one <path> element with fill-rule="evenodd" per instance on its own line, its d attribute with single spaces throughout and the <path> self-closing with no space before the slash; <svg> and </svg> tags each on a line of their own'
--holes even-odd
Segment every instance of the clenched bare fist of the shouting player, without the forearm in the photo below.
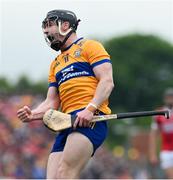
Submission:
<svg viewBox="0 0 173 180">
<path fill-rule="evenodd" d="M 28 106 L 24 106 L 23 108 L 19 109 L 17 111 L 17 117 L 22 122 L 30 122 L 32 121 L 32 112 L 31 109 Z"/>
</svg>

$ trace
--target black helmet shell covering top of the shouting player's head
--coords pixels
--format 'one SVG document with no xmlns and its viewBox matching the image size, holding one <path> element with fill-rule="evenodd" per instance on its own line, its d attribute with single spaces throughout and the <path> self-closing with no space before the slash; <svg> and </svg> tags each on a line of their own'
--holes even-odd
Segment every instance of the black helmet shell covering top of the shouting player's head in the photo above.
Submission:
<svg viewBox="0 0 173 180">
<path fill-rule="evenodd" d="M 46 18 L 43 21 L 43 26 L 46 23 L 47 20 L 53 20 L 56 21 L 58 25 L 58 21 L 68 21 L 70 23 L 70 27 L 73 28 L 73 30 L 77 29 L 78 23 L 80 20 L 77 19 L 75 13 L 68 10 L 52 10 L 47 13 Z"/>
</svg>

